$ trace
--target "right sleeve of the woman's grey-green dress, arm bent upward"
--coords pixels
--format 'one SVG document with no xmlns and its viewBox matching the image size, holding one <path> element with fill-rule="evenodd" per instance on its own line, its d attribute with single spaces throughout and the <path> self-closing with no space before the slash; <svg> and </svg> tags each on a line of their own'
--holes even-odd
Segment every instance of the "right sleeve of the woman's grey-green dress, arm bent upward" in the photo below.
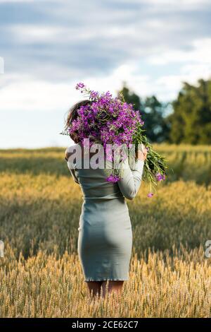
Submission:
<svg viewBox="0 0 211 332">
<path fill-rule="evenodd" d="M 143 174 L 143 160 L 136 160 L 134 166 L 130 167 L 128 159 L 124 160 L 124 168 L 122 179 L 117 184 L 120 187 L 122 195 L 129 200 L 132 200 L 139 191 L 141 186 L 141 179 Z"/>
</svg>

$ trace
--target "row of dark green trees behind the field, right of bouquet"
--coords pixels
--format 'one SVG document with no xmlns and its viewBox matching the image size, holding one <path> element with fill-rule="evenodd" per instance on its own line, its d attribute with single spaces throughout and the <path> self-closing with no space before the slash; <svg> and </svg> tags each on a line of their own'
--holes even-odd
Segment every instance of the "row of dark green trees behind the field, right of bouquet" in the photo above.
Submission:
<svg viewBox="0 0 211 332">
<path fill-rule="evenodd" d="M 141 112 L 149 141 L 211 143 L 211 80 L 200 79 L 196 85 L 184 82 L 172 102 L 161 102 L 155 95 L 141 98 L 126 83 L 119 93 Z"/>
</svg>

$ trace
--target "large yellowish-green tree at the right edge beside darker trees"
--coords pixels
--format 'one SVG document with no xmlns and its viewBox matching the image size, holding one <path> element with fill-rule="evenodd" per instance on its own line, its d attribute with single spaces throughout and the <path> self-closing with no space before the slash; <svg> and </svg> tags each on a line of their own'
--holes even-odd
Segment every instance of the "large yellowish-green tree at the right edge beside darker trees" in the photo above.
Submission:
<svg viewBox="0 0 211 332">
<path fill-rule="evenodd" d="M 211 143 L 211 81 L 200 79 L 197 85 L 183 83 L 172 102 L 173 114 L 167 117 L 170 124 L 170 142 Z"/>
</svg>

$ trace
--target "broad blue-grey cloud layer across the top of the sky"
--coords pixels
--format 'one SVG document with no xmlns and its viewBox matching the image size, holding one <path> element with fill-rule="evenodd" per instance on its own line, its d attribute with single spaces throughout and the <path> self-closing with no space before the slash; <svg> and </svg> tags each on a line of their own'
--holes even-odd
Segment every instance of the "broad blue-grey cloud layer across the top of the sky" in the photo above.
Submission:
<svg viewBox="0 0 211 332">
<path fill-rule="evenodd" d="M 191 48 L 210 37 L 211 6 L 167 11 L 153 1 L 36 1 L 0 4 L 0 56 L 6 70 L 46 80 L 106 74 L 127 61 L 141 61 L 166 49 Z M 1 20 L 2 19 L 2 20 Z M 26 36 L 21 35 L 21 25 Z M 39 39 L 32 28 L 58 27 Z M 22 30 L 24 32 L 24 30 Z M 87 33 L 89 32 L 89 33 Z"/>
</svg>

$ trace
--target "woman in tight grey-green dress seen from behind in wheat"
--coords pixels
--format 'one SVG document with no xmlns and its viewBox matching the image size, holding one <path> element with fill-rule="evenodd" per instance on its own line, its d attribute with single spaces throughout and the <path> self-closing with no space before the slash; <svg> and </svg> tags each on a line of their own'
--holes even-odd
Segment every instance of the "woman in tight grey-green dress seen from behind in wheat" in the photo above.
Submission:
<svg viewBox="0 0 211 332">
<path fill-rule="evenodd" d="M 90 102 L 83 100 L 70 109 L 66 127 L 77 118 L 77 109 Z M 125 198 L 132 200 L 139 191 L 147 150 L 145 147 L 142 151 L 138 150 L 138 160 L 132 168 L 125 160 L 122 179 L 113 183 L 106 181 L 105 170 L 82 168 L 82 160 L 76 158 L 75 162 L 70 158 L 75 151 L 82 151 L 83 158 L 86 158 L 82 142 L 74 134 L 70 137 L 75 145 L 66 149 L 65 160 L 84 196 L 77 242 L 84 281 L 87 282 L 90 295 L 102 291 L 104 296 L 106 285 L 108 292 L 120 292 L 124 280 L 128 280 L 132 254 L 132 225 Z M 89 158 L 91 156 L 90 153 Z"/>
</svg>

